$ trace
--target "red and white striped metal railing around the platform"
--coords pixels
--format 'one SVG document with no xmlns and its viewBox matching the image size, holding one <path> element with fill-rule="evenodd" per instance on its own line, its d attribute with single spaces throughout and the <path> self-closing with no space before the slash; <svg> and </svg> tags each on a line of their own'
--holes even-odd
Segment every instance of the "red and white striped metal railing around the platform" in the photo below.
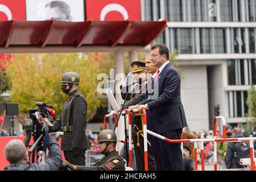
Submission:
<svg viewBox="0 0 256 182">
<path fill-rule="evenodd" d="M 214 138 L 206 138 L 206 139 L 169 139 L 153 131 L 147 130 L 147 113 L 146 110 L 143 109 L 143 129 L 144 129 L 144 163 L 145 163 L 145 171 L 148 171 L 148 145 L 147 145 L 147 134 L 151 134 L 154 137 L 159 139 L 165 140 L 165 142 L 169 143 L 194 143 L 194 160 L 195 160 L 195 169 L 198 170 L 198 163 L 197 163 L 197 142 L 201 143 L 200 150 L 201 150 L 201 166 L 202 171 L 205 171 L 205 159 L 204 159 L 204 142 L 213 142 L 213 155 L 214 155 L 214 171 L 217 171 L 217 142 L 250 142 L 250 164 L 251 164 L 251 171 L 255 171 L 255 162 L 254 162 L 254 146 L 253 140 L 256 140 L 256 137 L 251 138 L 226 138 L 226 121 L 225 118 L 222 116 L 218 116 L 214 118 L 213 122 L 213 135 Z M 132 112 L 123 111 L 121 114 L 128 114 L 129 118 L 129 167 L 132 167 L 132 139 L 131 139 L 131 115 L 136 114 L 138 111 L 137 109 L 133 110 Z M 118 113 L 112 112 L 110 114 L 105 115 L 104 117 L 104 129 L 107 129 L 107 117 L 115 117 Z M 216 130 L 216 123 L 217 121 L 222 122 L 222 129 L 223 129 L 223 137 L 224 138 L 217 138 L 217 130 Z M 123 140 L 118 140 L 119 142 L 125 143 Z"/>
</svg>

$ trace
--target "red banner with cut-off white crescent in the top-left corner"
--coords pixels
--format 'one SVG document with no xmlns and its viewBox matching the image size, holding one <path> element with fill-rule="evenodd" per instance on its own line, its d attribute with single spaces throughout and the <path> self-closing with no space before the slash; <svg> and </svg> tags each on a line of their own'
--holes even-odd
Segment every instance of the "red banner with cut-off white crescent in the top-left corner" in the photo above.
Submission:
<svg viewBox="0 0 256 182">
<path fill-rule="evenodd" d="M 1 0 L 0 20 L 26 20 L 25 0 Z"/>
</svg>

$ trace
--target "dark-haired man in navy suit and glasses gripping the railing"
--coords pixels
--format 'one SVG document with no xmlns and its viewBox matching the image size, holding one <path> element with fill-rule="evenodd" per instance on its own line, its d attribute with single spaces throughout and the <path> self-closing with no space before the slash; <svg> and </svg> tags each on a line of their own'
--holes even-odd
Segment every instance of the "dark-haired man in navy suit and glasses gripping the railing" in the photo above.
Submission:
<svg viewBox="0 0 256 182">
<path fill-rule="evenodd" d="M 151 60 L 159 68 L 152 80 L 153 92 L 148 98 L 129 110 L 147 110 L 148 130 L 169 139 L 181 139 L 186 123 L 180 97 L 181 78 L 176 68 L 169 62 L 169 49 L 164 44 L 151 47 Z M 168 143 L 148 135 L 152 140 L 157 170 L 184 170 L 180 143 Z"/>
</svg>

